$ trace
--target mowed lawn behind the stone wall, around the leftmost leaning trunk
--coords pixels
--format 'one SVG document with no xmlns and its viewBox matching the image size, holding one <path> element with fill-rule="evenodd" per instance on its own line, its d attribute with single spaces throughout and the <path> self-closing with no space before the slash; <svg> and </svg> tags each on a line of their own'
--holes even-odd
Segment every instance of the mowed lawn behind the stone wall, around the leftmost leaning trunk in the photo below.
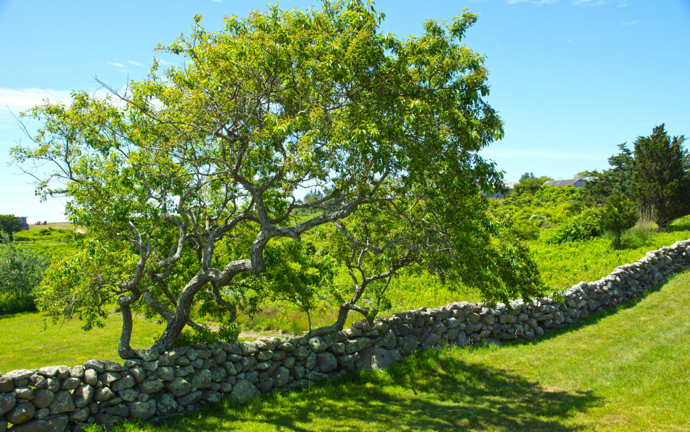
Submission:
<svg viewBox="0 0 690 432">
<path fill-rule="evenodd" d="M 72 320 L 43 329 L 43 314 L 39 312 L 0 315 L 0 371 L 38 369 L 66 364 L 74 366 L 86 360 L 122 361 L 117 344 L 122 329 L 122 317 L 111 315 L 103 329 L 83 331 L 83 322 Z M 132 347 L 148 348 L 154 334 L 163 333 L 164 325 L 154 320 L 135 319 Z"/>
</svg>

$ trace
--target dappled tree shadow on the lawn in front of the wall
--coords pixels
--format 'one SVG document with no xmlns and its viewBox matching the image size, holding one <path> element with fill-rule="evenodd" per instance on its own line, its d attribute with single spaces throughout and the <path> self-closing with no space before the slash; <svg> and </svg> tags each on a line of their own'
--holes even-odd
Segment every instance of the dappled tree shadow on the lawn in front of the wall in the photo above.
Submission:
<svg viewBox="0 0 690 432">
<path fill-rule="evenodd" d="M 385 371 L 352 373 L 242 407 L 228 401 L 161 425 L 173 431 L 549 431 L 599 403 L 590 392 L 544 389 L 469 365 L 459 349 L 417 351 Z"/>
</svg>

